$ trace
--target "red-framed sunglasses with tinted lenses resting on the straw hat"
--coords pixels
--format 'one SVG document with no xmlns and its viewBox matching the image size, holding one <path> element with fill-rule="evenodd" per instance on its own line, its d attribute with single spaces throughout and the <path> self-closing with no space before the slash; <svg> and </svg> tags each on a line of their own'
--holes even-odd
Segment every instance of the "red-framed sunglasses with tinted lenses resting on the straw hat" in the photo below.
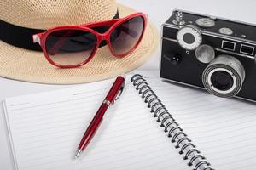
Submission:
<svg viewBox="0 0 256 170">
<path fill-rule="evenodd" d="M 136 13 L 82 26 L 54 27 L 33 35 L 33 41 L 41 45 L 50 64 L 74 68 L 88 63 L 106 42 L 115 57 L 131 54 L 141 42 L 146 26 L 146 14 Z"/>
</svg>

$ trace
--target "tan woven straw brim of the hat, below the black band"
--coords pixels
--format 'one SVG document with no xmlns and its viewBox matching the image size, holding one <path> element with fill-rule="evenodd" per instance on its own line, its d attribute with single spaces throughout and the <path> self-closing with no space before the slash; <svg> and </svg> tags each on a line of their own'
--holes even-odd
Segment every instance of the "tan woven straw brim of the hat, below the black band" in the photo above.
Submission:
<svg viewBox="0 0 256 170">
<path fill-rule="evenodd" d="M 120 17 L 134 11 L 119 4 Z M 152 56 L 160 41 L 159 33 L 149 21 L 143 41 L 125 58 L 115 58 L 108 46 L 99 48 L 96 56 L 84 66 L 60 69 L 50 65 L 42 52 L 16 48 L 0 42 L 0 77 L 48 84 L 74 84 L 96 82 L 132 71 Z"/>
</svg>

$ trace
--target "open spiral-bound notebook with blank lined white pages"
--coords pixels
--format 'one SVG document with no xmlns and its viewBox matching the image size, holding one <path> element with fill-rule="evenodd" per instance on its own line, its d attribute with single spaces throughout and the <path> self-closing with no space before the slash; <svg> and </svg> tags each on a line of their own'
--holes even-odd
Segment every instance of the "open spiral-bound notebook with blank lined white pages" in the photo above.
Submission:
<svg viewBox="0 0 256 170">
<path fill-rule="evenodd" d="M 126 77 L 78 161 L 79 140 L 113 80 L 5 99 L 14 169 L 256 168 L 256 105 L 142 73 Z"/>
</svg>

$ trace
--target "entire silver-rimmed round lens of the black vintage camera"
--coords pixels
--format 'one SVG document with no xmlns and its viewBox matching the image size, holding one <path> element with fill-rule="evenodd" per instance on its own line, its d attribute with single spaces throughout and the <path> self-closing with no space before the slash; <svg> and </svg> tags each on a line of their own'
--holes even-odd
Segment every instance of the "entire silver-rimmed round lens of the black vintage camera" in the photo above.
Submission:
<svg viewBox="0 0 256 170">
<path fill-rule="evenodd" d="M 207 91 L 223 98 L 238 94 L 244 79 L 244 67 L 230 55 L 219 55 L 213 59 L 202 74 L 202 82 Z"/>
</svg>

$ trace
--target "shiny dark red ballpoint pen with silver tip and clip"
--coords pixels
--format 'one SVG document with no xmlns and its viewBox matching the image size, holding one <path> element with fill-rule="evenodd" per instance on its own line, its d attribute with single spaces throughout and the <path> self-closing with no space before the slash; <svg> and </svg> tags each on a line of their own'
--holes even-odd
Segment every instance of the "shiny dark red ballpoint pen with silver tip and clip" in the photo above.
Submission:
<svg viewBox="0 0 256 170">
<path fill-rule="evenodd" d="M 93 138 L 94 134 L 98 127 L 100 127 L 101 122 L 103 120 L 103 116 L 108 110 L 109 105 L 113 104 L 113 102 L 119 98 L 122 94 L 123 89 L 125 87 L 125 78 L 117 77 L 115 82 L 113 82 L 112 88 L 109 90 L 108 95 L 103 100 L 102 105 L 96 112 L 96 115 L 93 117 L 90 122 L 89 127 L 87 127 L 83 138 L 79 144 L 78 150 L 76 152 L 75 158 L 78 158 L 82 151 L 86 148 L 86 146 L 90 143 L 90 140 Z"/>
</svg>

